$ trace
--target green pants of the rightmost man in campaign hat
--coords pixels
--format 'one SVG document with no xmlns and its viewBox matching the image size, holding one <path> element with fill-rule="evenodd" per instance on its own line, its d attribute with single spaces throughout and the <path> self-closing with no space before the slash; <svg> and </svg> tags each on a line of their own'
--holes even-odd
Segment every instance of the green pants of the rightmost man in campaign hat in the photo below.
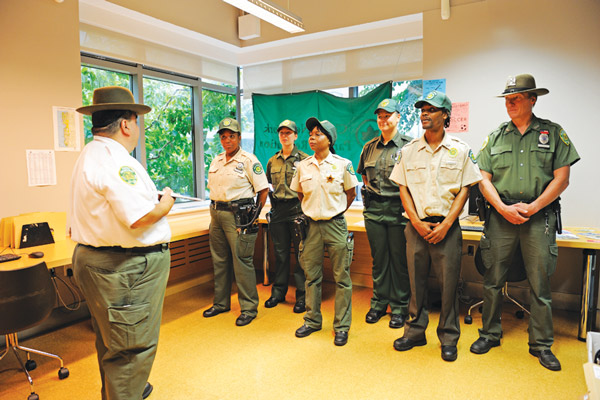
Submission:
<svg viewBox="0 0 600 400">
<path fill-rule="evenodd" d="M 479 334 L 490 340 L 500 340 L 502 326 L 502 288 L 517 245 L 521 244 L 523 262 L 530 286 L 529 347 L 546 350 L 554 343 L 552 326 L 552 293 L 550 276 L 556 269 L 556 216 L 544 210 L 528 222 L 513 225 L 498 212 L 492 211 L 481 238 L 481 257 L 486 267 L 483 276 L 483 328 Z"/>
</svg>

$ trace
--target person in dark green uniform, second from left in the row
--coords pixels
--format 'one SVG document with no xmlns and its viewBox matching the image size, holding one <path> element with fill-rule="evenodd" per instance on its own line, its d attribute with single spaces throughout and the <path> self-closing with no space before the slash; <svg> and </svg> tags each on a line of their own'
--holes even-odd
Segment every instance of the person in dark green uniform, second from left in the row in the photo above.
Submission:
<svg viewBox="0 0 600 400">
<path fill-rule="evenodd" d="M 285 301 L 290 276 L 290 246 L 296 250 L 296 268 L 294 281 L 296 284 L 295 313 L 306 311 L 304 300 L 304 271 L 300 266 L 297 236 L 294 234 L 294 219 L 302 214 L 298 193 L 290 189 L 296 165 L 308 155 L 298 150 L 295 145 L 298 139 L 296 123 L 286 119 L 277 128 L 281 150 L 267 162 L 267 179 L 273 185 L 269 193 L 271 212 L 269 230 L 275 250 L 275 280 L 271 289 L 271 297 L 265 302 L 265 307 L 272 308 Z"/>
</svg>

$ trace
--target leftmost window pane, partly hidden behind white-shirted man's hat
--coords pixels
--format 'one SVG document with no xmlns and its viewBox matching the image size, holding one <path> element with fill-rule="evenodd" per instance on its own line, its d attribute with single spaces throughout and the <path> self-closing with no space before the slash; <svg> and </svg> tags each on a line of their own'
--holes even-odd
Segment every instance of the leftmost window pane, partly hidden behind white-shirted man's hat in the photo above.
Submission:
<svg viewBox="0 0 600 400">
<path fill-rule="evenodd" d="M 85 64 L 81 66 L 83 105 L 92 104 L 94 89 L 104 86 L 121 86 L 131 90 L 131 75 Z M 83 129 L 85 132 L 85 143 L 87 144 L 94 138 L 92 135 L 92 118 L 87 115 L 83 118 Z"/>
</svg>

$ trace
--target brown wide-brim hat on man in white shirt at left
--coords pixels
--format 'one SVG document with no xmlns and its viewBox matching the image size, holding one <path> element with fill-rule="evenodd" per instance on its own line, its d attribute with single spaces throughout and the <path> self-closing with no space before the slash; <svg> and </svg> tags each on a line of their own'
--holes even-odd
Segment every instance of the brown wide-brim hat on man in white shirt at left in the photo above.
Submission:
<svg viewBox="0 0 600 400">
<path fill-rule="evenodd" d="M 152 108 L 138 104 L 133 99 L 133 94 L 127 88 L 120 86 L 106 86 L 94 90 L 91 106 L 79 107 L 78 112 L 92 115 L 96 111 L 127 110 L 138 115 L 147 114 Z"/>
</svg>

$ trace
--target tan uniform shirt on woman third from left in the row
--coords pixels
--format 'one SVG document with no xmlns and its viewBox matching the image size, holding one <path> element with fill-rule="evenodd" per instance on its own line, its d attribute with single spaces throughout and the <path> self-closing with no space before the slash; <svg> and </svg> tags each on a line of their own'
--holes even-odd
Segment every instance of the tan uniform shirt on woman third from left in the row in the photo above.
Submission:
<svg viewBox="0 0 600 400">
<path fill-rule="evenodd" d="M 329 153 L 321 163 L 314 155 L 300 161 L 290 188 L 304 194 L 304 214 L 314 220 L 327 220 L 346 210 L 346 190 L 356 185 L 358 179 L 350 160 Z"/>
</svg>

